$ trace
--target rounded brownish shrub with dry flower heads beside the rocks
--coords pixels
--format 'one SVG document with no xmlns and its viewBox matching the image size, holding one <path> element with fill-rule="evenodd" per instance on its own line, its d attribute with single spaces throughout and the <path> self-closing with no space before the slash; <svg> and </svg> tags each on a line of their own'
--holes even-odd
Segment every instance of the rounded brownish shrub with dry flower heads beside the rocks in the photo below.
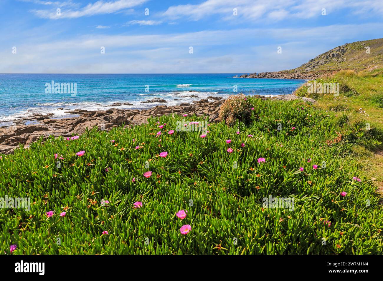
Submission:
<svg viewBox="0 0 383 281">
<path fill-rule="evenodd" d="M 229 127 L 237 120 L 247 123 L 250 119 L 252 105 L 244 94 L 229 96 L 219 109 L 219 118 Z"/>
</svg>

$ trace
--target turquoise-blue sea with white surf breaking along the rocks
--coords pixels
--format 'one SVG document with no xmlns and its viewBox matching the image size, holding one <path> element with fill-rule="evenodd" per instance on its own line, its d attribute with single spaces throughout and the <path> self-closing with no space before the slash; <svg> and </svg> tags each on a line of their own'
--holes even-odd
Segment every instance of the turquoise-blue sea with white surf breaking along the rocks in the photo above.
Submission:
<svg viewBox="0 0 383 281">
<path fill-rule="evenodd" d="M 286 95 L 306 81 L 234 78 L 242 74 L 3 73 L 0 74 L 0 125 L 10 125 L 13 120 L 36 113 L 53 113 L 53 118 L 65 118 L 70 115 L 65 113 L 68 110 L 106 110 L 114 103 L 131 104 L 113 106 L 119 109 L 145 109 L 160 104 L 142 103 L 153 98 L 165 99 L 166 103 L 162 104 L 173 106 L 208 96 L 226 98 L 238 93 Z M 59 85 L 59 88 L 55 85 Z"/>
</svg>

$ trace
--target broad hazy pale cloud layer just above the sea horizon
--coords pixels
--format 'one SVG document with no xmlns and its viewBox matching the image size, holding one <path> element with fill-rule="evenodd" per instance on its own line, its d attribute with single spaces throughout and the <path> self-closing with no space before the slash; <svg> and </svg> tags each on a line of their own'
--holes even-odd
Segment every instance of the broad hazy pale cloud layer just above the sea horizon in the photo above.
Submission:
<svg viewBox="0 0 383 281">
<path fill-rule="evenodd" d="M 244 28 L 150 35 L 33 36 L 0 50 L 0 73 L 242 73 L 295 68 L 347 42 L 381 37 L 383 23 Z M 40 43 L 43 41 L 45 43 Z M 189 54 L 189 46 L 194 53 Z M 282 46 L 282 54 L 277 47 Z M 105 54 L 100 53 L 105 47 Z"/>
</svg>

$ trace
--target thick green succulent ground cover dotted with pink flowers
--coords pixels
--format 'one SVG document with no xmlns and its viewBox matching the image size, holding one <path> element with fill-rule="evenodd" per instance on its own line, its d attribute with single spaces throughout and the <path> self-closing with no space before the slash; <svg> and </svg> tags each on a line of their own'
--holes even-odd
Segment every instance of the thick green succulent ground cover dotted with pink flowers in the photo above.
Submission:
<svg viewBox="0 0 383 281">
<path fill-rule="evenodd" d="M 249 124 L 211 124 L 206 138 L 169 135 L 182 117 L 164 116 L 2 155 L 0 197 L 34 203 L 30 211 L 0 209 L 0 252 L 17 244 L 14 254 L 381 254 L 380 198 L 353 161 L 355 148 L 381 145 L 381 130 L 297 101 L 248 100 Z M 167 123 L 159 137 L 157 121 Z M 341 140 L 334 141 L 338 133 Z M 85 155 L 76 156 L 81 150 Z M 166 158 L 157 156 L 162 151 Z M 61 169 L 55 153 L 64 156 Z M 260 157 L 266 161 L 258 163 Z M 294 198 L 294 210 L 262 208 L 270 195 Z M 143 207 L 134 209 L 135 201 Z M 51 210 L 55 215 L 47 218 Z M 178 210 L 188 211 L 182 221 Z M 180 234 L 183 224 L 192 227 L 187 235 Z"/>
</svg>

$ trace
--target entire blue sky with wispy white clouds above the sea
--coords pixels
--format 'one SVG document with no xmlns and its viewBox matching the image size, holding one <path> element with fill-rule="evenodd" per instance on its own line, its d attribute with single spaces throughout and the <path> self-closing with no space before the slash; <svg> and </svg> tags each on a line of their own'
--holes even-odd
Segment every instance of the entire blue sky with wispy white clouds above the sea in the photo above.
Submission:
<svg viewBox="0 0 383 281">
<path fill-rule="evenodd" d="M 381 0 L 0 0 L 0 73 L 284 70 L 382 18 Z"/>
</svg>

